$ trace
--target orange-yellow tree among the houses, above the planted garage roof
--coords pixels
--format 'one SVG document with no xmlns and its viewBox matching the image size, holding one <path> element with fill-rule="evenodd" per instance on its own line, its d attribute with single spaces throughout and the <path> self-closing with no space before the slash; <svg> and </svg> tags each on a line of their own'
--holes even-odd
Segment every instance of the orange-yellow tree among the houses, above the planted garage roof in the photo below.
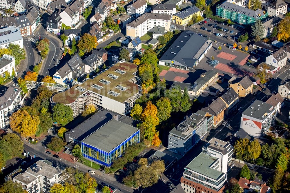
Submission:
<svg viewBox="0 0 290 193">
<path fill-rule="evenodd" d="M 81 36 L 77 43 L 77 47 L 79 48 L 79 56 L 83 56 L 84 54 L 92 51 L 93 48 L 97 48 L 97 45 L 97 37 L 85 33 Z"/>
</svg>

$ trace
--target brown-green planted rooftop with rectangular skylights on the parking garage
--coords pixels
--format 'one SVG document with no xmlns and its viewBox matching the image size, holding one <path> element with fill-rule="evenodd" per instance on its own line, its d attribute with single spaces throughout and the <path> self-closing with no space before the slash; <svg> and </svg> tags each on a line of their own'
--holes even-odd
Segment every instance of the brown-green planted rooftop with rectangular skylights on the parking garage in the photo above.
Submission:
<svg viewBox="0 0 290 193">
<path fill-rule="evenodd" d="M 88 90 L 108 97 L 120 103 L 138 93 L 135 82 L 137 65 L 130 62 L 117 63 L 93 79 L 88 79 L 82 84 L 76 84 L 64 92 L 59 92 L 52 97 L 55 103 L 70 104 L 77 100 Z"/>
</svg>

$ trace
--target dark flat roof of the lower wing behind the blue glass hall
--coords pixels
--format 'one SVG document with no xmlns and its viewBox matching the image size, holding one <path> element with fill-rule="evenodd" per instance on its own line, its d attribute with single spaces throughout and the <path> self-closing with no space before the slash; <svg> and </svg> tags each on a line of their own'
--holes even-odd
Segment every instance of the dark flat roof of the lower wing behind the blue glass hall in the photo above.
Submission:
<svg viewBox="0 0 290 193">
<path fill-rule="evenodd" d="M 81 141 L 85 139 L 86 136 L 95 132 L 97 129 L 102 127 L 102 125 L 110 121 L 115 114 L 117 113 L 106 110 L 106 109 L 101 109 L 97 113 L 92 115 L 89 119 L 77 125 L 72 130 L 68 131 L 66 135 L 72 136 L 78 139 L 79 141 Z M 119 115 L 119 114 L 117 115 L 118 115 L 118 120 L 122 121 L 123 123 L 126 123 L 127 125 L 137 127 L 137 123 L 139 123 L 139 121 L 134 120 L 131 117 L 128 117 L 126 115 Z"/>
</svg>

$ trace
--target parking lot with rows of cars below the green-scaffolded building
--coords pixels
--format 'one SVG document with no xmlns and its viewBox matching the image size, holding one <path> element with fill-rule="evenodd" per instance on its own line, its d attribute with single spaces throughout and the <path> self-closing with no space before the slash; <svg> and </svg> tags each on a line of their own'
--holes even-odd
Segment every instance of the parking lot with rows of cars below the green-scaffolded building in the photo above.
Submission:
<svg viewBox="0 0 290 193">
<path fill-rule="evenodd" d="M 245 29 L 239 25 L 228 25 L 226 22 L 222 23 L 215 20 L 209 21 L 209 19 L 192 26 L 192 28 L 200 30 L 205 34 L 214 34 L 219 39 L 227 40 L 238 40 L 238 37 L 246 32 Z"/>
</svg>

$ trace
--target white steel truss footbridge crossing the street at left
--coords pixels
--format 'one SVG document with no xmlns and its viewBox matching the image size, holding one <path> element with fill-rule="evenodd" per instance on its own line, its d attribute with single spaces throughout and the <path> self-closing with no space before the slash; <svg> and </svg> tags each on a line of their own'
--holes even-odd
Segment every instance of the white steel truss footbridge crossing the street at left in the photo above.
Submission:
<svg viewBox="0 0 290 193">
<path fill-rule="evenodd" d="M 26 87 L 32 90 L 37 90 L 37 88 L 42 85 L 46 86 L 49 90 L 54 91 L 54 92 L 65 91 L 68 88 L 70 88 L 68 84 L 46 83 L 46 82 L 36 82 L 36 81 L 25 81 L 25 82 L 26 82 Z"/>
</svg>

